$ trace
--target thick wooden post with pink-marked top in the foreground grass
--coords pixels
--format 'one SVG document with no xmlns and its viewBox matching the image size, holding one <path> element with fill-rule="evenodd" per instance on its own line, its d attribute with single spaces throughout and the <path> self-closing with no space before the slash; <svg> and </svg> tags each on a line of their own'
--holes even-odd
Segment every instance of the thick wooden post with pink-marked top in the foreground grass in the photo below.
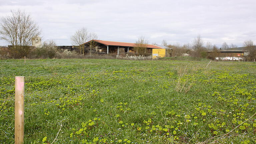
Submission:
<svg viewBox="0 0 256 144">
<path fill-rule="evenodd" d="M 15 77 L 15 144 L 24 142 L 24 77 Z"/>
</svg>

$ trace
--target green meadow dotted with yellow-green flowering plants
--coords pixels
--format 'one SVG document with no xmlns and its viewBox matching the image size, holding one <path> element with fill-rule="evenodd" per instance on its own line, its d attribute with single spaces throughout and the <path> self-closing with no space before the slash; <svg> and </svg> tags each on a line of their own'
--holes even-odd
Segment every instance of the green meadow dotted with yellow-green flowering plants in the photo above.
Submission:
<svg viewBox="0 0 256 144">
<path fill-rule="evenodd" d="M 208 62 L 0 60 L 0 143 L 14 143 L 15 76 L 25 144 L 61 125 L 56 144 L 256 143 L 256 64 Z"/>
</svg>

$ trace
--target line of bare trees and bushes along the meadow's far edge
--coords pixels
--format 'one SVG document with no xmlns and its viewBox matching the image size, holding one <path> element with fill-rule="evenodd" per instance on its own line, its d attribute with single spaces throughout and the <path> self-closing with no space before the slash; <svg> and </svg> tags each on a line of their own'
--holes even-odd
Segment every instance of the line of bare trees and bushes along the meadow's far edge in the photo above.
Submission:
<svg viewBox="0 0 256 144">
<path fill-rule="evenodd" d="M 1 18 L 0 23 L 0 39 L 5 40 L 11 45 L 8 48 L 0 47 L 0 55 L 8 55 L 10 58 L 22 58 L 24 56 L 31 58 L 53 58 L 60 54 L 56 48 L 56 43 L 53 40 L 45 41 L 40 47 L 32 47 L 33 40 L 41 34 L 38 24 L 32 20 L 31 16 L 25 11 L 11 10 L 11 15 Z M 85 55 L 84 43 L 89 41 L 90 56 L 91 50 L 96 46 L 94 39 L 98 39 L 98 35 L 90 32 L 88 29 L 82 27 L 78 29 L 71 37 L 70 41 L 77 46 L 80 55 Z M 135 42 L 134 51 L 137 55 L 147 55 L 150 51 L 147 49 L 148 40 L 141 36 Z M 195 38 L 192 43 L 181 45 L 168 44 L 165 40 L 162 41 L 163 46 L 167 49 L 172 49 L 171 56 L 193 56 L 200 58 L 216 59 L 216 57 L 225 57 L 220 53 L 221 49 L 237 48 L 236 45 L 228 45 L 226 42 L 220 48 L 210 42 L 204 42 L 200 35 Z M 246 59 L 252 61 L 256 58 L 256 48 L 252 40 L 246 40 L 243 47 L 250 51 L 245 56 Z M 211 53 L 207 53 L 212 50 Z"/>
</svg>

